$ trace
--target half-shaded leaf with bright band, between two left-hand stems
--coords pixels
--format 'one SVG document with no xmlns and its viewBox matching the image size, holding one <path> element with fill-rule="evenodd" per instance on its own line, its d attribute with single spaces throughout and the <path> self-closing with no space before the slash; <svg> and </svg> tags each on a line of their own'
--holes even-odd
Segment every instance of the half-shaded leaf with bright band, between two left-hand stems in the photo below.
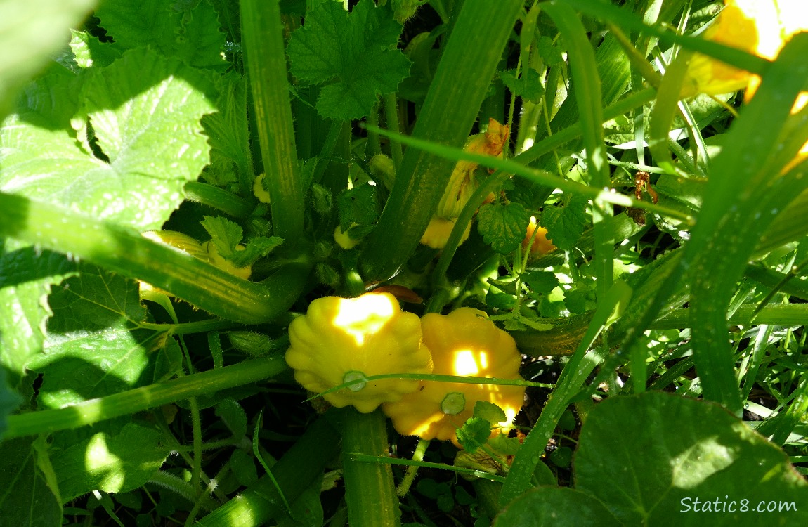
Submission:
<svg viewBox="0 0 808 527">
<path fill-rule="evenodd" d="M 146 311 L 137 283 L 85 265 L 48 301 L 53 317 L 44 352 L 27 365 L 43 373 L 40 407 L 60 408 L 152 382 L 169 337 L 138 327 Z"/>
</svg>

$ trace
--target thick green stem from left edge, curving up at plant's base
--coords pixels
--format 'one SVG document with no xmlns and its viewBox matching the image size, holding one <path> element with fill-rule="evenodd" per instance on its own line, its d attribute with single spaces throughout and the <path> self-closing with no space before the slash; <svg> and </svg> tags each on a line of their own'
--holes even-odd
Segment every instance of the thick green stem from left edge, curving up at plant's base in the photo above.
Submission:
<svg viewBox="0 0 808 527">
<path fill-rule="evenodd" d="M 122 276 L 143 280 L 209 313 L 264 323 L 292 306 L 308 277 L 308 255 L 263 282 L 241 280 L 137 231 L 0 192 L 0 237 L 18 238 Z"/>
</svg>

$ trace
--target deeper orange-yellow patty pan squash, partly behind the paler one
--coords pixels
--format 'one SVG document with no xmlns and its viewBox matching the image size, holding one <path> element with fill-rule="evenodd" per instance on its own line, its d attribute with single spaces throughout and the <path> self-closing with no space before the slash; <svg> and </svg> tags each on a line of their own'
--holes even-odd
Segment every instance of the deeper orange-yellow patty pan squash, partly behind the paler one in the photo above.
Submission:
<svg viewBox="0 0 808 527">
<path fill-rule="evenodd" d="M 522 357 L 511 335 L 494 326 L 480 310 L 461 307 L 448 315 L 421 318 L 423 342 L 432 352 L 432 373 L 473 377 L 521 379 Z M 419 390 L 382 411 L 393 427 L 406 436 L 450 440 L 458 447 L 456 428 L 472 417 L 478 401 L 494 403 L 507 415 L 508 427 L 524 401 L 524 386 L 461 384 L 422 381 Z M 495 433 L 495 432 L 494 432 Z"/>
</svg>

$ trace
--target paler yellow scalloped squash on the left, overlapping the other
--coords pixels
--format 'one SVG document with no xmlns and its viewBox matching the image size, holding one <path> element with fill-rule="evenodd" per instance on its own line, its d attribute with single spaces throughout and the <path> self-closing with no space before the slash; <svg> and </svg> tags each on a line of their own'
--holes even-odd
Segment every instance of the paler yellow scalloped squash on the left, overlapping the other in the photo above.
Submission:
<svg viewBox="0 0 808 527">
<path fill-rule="evenodd" d="M 431 373 L 418 315 L 406 313 L 389 293 L 322 297 L 289 325 L 286 362 L 306 390 L 321 393 L 345 382 L 385 373 Z M 418 389 L 418 381 L 382 379 L 326 394 L 335 407 L 368 413 Z"/>
</svg>

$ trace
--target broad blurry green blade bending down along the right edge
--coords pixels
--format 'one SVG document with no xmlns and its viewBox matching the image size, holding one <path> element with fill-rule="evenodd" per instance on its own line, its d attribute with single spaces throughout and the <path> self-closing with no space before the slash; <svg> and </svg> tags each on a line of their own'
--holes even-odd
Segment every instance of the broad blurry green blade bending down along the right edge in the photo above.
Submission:
<svg viewBox="0 0 808 527">
<path fill-rule="evenodd" d="M 692 280 L 693 356 L 701 386 L 706 398 L 735 413 L 742 405 L 734 356 L 727 343 L 726 306 L 760 236 L 784 204 L 808 184 L 802 166 L 778 176 L 797 154 L 798 145 L 808 139 L 805 129 L 797 140 L 781 133 L 808 76 L 803 60 L 806 53 L 808 36 L 794 36 L 764 75 L 755 99 L 734 121 L 724 150 L 713 162 L 704 205 L 684 256 L 624 343 L 624 348 L 633 346 L 688 276 Z"/>
</svg>

